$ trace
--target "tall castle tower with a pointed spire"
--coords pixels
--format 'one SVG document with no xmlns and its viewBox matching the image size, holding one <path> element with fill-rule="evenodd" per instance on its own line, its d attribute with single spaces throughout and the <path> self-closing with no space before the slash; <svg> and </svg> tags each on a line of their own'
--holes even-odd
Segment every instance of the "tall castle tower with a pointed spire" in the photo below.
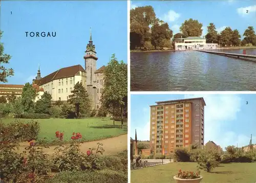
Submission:
<svg viewBox="0 0 256 183">
<path fill-rule="evenodd" d="M 90 30 L 90 40 L 87 44 L 86 55 L 83 56 L 85 61 L 85 69 L 86 69 L 86 85 L 87 92 L 89 96 L 91 96 L 92 100 L 92 109 L 96 108 L 97 103 L 97 87 L 96 87 L 96 61 L 98 58 L 96 57 L 95 45 L 92 41 L 92 30 Z"/>
</svg>

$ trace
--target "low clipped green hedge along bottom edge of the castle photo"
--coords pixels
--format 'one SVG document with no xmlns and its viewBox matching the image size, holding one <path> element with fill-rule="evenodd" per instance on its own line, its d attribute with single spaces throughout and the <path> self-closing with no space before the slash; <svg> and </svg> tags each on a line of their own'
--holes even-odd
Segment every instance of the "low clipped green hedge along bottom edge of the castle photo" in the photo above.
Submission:
<svg viewBox="0 0 256 183">
<path fill-rule="evenodd" d="M 77 171 L 77 172 L 61 172 L 53 178 L 49 179 L 47 183 L 52 182 L 87 182 L 87 183 L 125 183 L 128 181 L 127 174 L 113 171 L 113 170 L 99 170 L 99 171 Z"/>
</svg>

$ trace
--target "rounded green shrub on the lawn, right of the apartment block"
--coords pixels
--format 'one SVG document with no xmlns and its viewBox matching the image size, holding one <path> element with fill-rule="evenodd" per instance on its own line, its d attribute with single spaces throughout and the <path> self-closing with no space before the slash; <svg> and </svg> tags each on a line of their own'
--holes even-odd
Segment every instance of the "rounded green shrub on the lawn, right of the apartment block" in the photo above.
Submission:
<svg viewBox="0 0 256 183">
<path fill-rule="evenodd" d="M 199 153 L 197 163 L 200 169 L 207 172 L 210 172 L 219 165 L 219 162 L 216 161 L 214 152 L 208 150 L 203 150 Z"/>
</svg>

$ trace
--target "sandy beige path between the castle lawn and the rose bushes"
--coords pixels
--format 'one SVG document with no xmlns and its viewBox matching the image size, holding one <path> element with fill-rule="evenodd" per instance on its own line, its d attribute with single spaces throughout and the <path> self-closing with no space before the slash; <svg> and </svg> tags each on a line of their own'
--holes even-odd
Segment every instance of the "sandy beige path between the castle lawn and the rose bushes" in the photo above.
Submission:
<svg viewBox="0 0 256 183">
<path fill-rule="evenodd" d="M 97 148 L 98 142 L 103 144 L 102 147 L 105 150 L 104 155 L 116 154 L 120 151 L 127 150 L 127 134 L 124 134 L 110 139 L 84 142 L 80 147 L 81 152 L 86 153 L 89 148 Z M 19 151 L 22 152 L 26 146 L 28 146 L 27 142 L 21 143 Z M 44 152 L 51 156 L 54 153 L 55 147 L 57 146 L 50 146 L 49 149 L 44 148 Z"/>
</svg>

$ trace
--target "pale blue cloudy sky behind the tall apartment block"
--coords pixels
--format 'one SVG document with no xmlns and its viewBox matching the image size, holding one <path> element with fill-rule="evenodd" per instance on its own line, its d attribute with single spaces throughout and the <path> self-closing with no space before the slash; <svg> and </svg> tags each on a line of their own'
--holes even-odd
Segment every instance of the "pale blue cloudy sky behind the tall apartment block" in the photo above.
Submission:
<svg viewBox="0 0 256 183">
<path fill-rule="evenodd" d="M 150 105 L 157 101 L 203 97 L 205 106 L 205 143 L 214 141 L 223 149 L 256 144 L 256 94 L 243 95 L 131 95 L 131 137 L 150 139 Z M 248 101 L 248 104 L 246 104 Z"/>
</svg>

